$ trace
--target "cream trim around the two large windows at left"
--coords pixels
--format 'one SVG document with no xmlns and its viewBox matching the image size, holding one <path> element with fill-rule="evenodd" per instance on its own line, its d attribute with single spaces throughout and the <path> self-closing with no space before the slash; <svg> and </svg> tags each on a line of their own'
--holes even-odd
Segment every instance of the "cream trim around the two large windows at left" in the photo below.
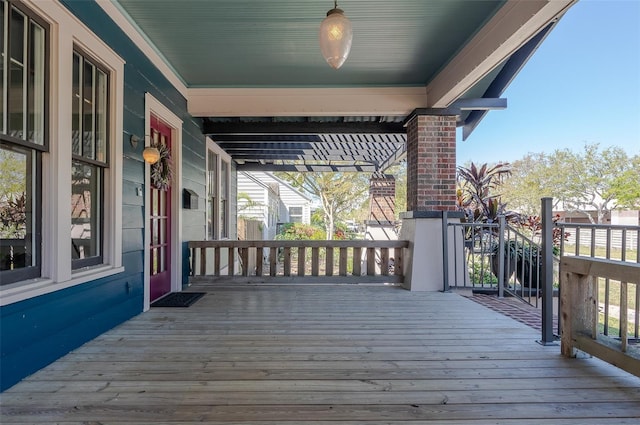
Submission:
<svg viewBox="0 0 640 425">
<path fill-rule="evenodd" d="M 42 277 L 0 287 L 0 306 L 124 271 L 122 126 L 124 60 L 59 2 L 22 0 L 49 24 L 49 152 L 42 155 Z M 71 93 L 74 48 L 109 72 L 109 168 L 104 178 L 104 263 L 71 270 Z M 65 201 L 67 200 L 67 201 Z"/>
</svg>

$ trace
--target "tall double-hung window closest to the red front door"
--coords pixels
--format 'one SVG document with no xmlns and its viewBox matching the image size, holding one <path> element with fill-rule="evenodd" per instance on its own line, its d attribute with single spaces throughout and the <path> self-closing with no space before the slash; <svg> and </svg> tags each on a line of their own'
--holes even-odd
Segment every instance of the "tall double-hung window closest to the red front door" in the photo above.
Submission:
<svg viewBox="0 0 640 425">
<path fill-rule="evenodd" d="M 104 173 L 107 168 L 107 82 L 97 64 L 73 54 L 71 258 L 77 269 L 102 263 Z"/>
</svg>

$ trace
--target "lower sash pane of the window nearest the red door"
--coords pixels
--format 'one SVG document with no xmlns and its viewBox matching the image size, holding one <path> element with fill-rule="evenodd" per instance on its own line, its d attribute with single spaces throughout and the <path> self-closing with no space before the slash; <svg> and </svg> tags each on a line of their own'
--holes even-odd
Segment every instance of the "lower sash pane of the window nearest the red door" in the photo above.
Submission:
<svg viewBox="0 0 640 425">
<path fill-rule="evenodd" d="M 72 258 L 87 259 L 101 255 L 100 247 L 100 174 L 94 165 L 73 161 L 71 176 Z"/>
</svg>

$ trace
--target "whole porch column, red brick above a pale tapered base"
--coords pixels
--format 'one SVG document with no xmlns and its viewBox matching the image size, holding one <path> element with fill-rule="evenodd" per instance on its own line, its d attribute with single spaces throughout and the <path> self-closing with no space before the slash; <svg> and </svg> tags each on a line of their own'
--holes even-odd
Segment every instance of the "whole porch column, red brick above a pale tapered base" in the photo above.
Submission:
<svg viewBox="0 0 640 425">
<path fill-rule="evenodd" d="M 412 291 L 441 291 L 445 278 L 455 276 L 453 265 L 444 266 L 445 249 L 449 258 L 455 255 L 453 231 L 445 242 L 443 229 L 462 217 L 456 211 L 456 114 L 427 111 L 415 111 L 407 123 L 407 212 L 400 238 L 410 241 L 404 286 Z"/>
</svg>

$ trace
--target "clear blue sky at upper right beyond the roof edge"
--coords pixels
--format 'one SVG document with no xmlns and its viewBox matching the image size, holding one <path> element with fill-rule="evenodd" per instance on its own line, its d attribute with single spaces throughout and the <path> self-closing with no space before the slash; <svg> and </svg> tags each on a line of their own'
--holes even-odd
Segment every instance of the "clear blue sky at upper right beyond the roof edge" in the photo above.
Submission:
<svg viewBox="0 0 640 425">
<path fill-rule="evenodd" d="M 458 164 L 579 152 L 586 142 L 640 154 L 640 0 L 581 0 L 462 141 Z"/>
</svg>

